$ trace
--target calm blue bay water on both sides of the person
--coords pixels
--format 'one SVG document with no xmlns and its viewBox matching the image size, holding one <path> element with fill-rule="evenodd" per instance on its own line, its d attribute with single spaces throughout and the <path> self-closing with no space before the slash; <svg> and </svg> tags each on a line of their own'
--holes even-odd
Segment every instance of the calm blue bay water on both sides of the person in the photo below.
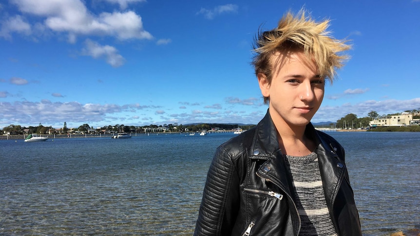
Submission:
<svg viewBox="0 0 420 236">
<path fill-rule="evenodd" d="M 420 228 L 420 133 L 330 132 L 363 235 Z M 0 235 L 192 235 L 212 155 L 233 134 L 0 141 Z"/>
</svg>

